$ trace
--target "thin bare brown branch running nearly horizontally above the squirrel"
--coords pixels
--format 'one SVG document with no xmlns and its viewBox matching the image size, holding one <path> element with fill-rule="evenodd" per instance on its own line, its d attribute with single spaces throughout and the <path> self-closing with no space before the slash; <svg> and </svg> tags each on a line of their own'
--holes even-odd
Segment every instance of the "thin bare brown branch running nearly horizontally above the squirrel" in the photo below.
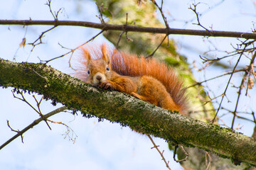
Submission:
<svg viewBox="0 0 256 170">
<path fill-rule="evenodd" d="M 218 31 L 211 30 L 186 30 L 186 29 L 175 29 L 175 28 L 150 28 L 150 27 L 139 27 L 129 25 L 114 25 L 108 23 L 91 23 L 85 21 L 32 21 L 32 20 L 0 20 L 0 25 L 48 25 L 48 26 L 83 26 L 89 28 L 98 28 L 102 30 L 122 30 L 125 32 L 141 32 L 141 33 L 161 33 L 166 35 L 178 34 L 178 35 L 199 35 L 208 37 L 229 37 L 229 38 L 245 38 L 245 39 L 256 39 L 255 33 L 242 33 L 242 32 L 229 32 L 229 31 Z"/>
</svg>

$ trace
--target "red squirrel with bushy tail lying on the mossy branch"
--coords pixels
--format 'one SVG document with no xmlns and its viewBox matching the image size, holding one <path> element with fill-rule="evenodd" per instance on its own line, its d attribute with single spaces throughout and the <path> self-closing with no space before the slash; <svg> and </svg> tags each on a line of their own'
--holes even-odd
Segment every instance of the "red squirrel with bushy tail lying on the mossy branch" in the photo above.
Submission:
<svg viewBox="0 0 256 170">
<path fill-rule="evenodd" d="M 185 89 L 174 70 L 166 64 L 111 50 L 105 44 L 98 49 L 80 49 L 80 67 L 75 72 L 78 79 L 186 114 Z"/>
</svg>

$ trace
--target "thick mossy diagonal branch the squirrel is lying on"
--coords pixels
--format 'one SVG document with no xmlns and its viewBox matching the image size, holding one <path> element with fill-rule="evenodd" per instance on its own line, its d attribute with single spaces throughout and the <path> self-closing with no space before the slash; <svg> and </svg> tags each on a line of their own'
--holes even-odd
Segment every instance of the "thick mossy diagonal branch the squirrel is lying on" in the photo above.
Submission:
<svg viewBox="0 0 256 170">
<path fill-rule="evenodd" d="M 36 92 L 87 117 L 105 118 L 175 145 L 199 147 L 228 157 L 235 164 L 256 166 L 256 140 L 251 137 L 171 113 L 117 91 L 96 89 L 46 64 L 0 59 L 0 86 Z"/>
</svg>

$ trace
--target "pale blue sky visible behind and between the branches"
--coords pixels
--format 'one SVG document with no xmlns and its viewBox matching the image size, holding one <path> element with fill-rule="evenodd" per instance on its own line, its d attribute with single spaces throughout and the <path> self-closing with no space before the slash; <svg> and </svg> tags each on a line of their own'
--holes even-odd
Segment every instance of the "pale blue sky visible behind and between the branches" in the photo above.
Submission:
<svg viewBox="0 0 256 170">
<path fill-rule="evenodd" d="M 4 4 L 0 6 L 0 19 L 53 19 L 48 7 L 44 5 L 46 1 L 43 0 L 0 0 L 0 2 Z M 198 11 L 206 11 L 217 2 L 203 1 L 204 4 L 198 7 Z M 172 28 L 201 29 L 192 24 L 196 23 L 196 20 L 187 24 L 181 22 L 195 19 L 193 12 L 188 10 L 190 1 L 164 1 L 164 3 L 164 12 L 170 13 L 166 16 Z M 53 0 L 52 5 L 53 11 L 64 8 L 63 13 L 60 13 L 59 19 L 61 20 L 100 22 L 95 16 L 97 15 L 97 8 L 92 1 Z M 250 0 L 226 0 L 220 6 L 205 13 L 201 18 L 201 23 L 207 28 L 213 26 L 214 30 L 250 32 L 255 21 L 255 8 L 253 1 Z M 77 11 L 80 11 L 82 15 Z M 176 21 L 171 21 L 171 18 L 175 18 Z M 26 35 L 27 42 L 33 42 L 42 31 L 48 28 L 50 26 L 29 26 L 26 32 L 26 28 L 23 28 L 23 26 L 0 26 L 0 57 L 13 60 L 14 55 L 17 54 L 17 62 L 26 60 L 28 62 L 39 62 L 38 57 L 42 60 L 48 60 L 67 52 L 58 45 L 58 42 L 65 47 L 75 48 L 89 40 L 92 35 L 100 32 L 100 30 L 91 28 L 58 27 L 47 33 L 43 38 L 44 44 L 36 47 L 32 53 L 30 53 L 30 45 L 18 49 L 24 35 Z M 196 60 L 198 67 L 202 65 L 201 61 L 198 60 L 199 54 L 213 49 L 214 46 L 220 50 L 232 50 L 230 44 L 238 42 L 235 38 L 210 38 L 209 40 L 212 43 L 210 44 L 206 38 L 187 35 L 170 35 L 170 38 L 176 40 L 178 51 L 188 57 L 188 62 L 192 63 L 193 60 Z M 94 42 L 105 41 L 107 40 L 99 36 Z M 222 55 L 218 52 L 212 54 Z M 231 60 L 231 63 L 233 62 L 235 60 Z M 247 64 L 248 62 L 244 60 L 241 63 Z M 70 72 L 68 57 L 50 62 L 50 65 L 61 72 Z M 213 77 L 221 73 L 223 73 L 222 69 L 213 67 L 210 67 L 206 72 L 207 77 Z M 196 73 L 198 80 L 202 80 L 203 77 L 203 72 Z M 216 93 L 221 93 L 225 81 L 226 78 L 210 81 L 209 86 Z M 233 81 L 235 83 L 238 80 L 234 79 Z M 11 88 L 0 89 L 0 94 L 0 128 L 2 132 L 0 144 L 2 144 L 15 135 L 7 127 L 6 120 L 10 120 L 12 128 L 21 130 L 38 118 L 38 115 L 26 103 L 13 98 Z M 235 99 L 234 91 L 230 90 L 228 94 L 231 99 Z M 254 94 L 255 90 L 250 91 L 251 98 L 249 100 L 247 98 L 241 99 L 243 100 L 241 108 L 255 111 L 256 95 Z M 35 104 L 31 96 L 26 95 L 26 98 Z M 41 97 L 37 96 L 37 98 Z M 58 106 L 60 107 L 60 105 Z M 232 108 L 233 105 L 227 107 Z M 43 101 L 41 106 L 43 113 L 53 111 L 55 108 L 51 106 L 49 101 Z M 224 120 L 227 125 L 230 125 L 230 118 L 232 117 L 229 115 L 225 116 Z M 152 145 L 149 139 L 144 135 L 132 132 L 129 128 L 122 128 L 118 124 L 109 123 L 107 120 L 98 123 L 97 119 L 94 118 L 85 119 L 80 115 L 74 117 L 70 113 L 59 113 L 50 119 L 67 123 L 78 135 L 75 144 L 67 138 L 64 139 L 63 134 L 65 134 L 66 129 L 62 125 L 50 123 L 53 130 L 49 130 L 45 123 L 41 123 L 23 135 L 24 144 L 21 143 L 19 137 L 4 149 L 1 149 L 1 169 L 165 169 L 164 162 L 161 161 L 159 154 L 156 150 L 150 149 Z M 252 134 L 252 128 L 254 127 L 252 123 L 238 121 L 236 125 L 238 123 L 244 125 L 241 132 L 245 135 Z M 166 159 L 171 162 L 171 169 L 181 169 L 181 166 L 173 161 L 173 154 L 169 151 L 167 143 L 158 138 L 154 138 L 154 140 L 157 145 L 161 146 L 160 149 L 165 150 L 164 154 Z"/>
</svg>

